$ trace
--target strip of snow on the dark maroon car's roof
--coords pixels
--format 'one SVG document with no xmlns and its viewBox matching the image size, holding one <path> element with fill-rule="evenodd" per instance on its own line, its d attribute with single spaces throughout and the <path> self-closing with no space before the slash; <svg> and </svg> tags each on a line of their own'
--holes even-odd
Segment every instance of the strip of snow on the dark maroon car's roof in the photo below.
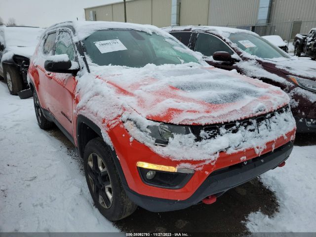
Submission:
<svg viewBox="0 0 316 237">
<path fill-rule="evenodd" d="M 227 38 L 230 36 L 230 34 L 235 34 L 235 33 L 246 33 L 246 34 L 257 35 L 256 33 L 251 32 L 251 31 L 241 30 L 237 28 L 230 28 L 230 27 L 222 27 L 222 26 L 173 26 L 173 27 L 164 27 L 161 29 L 166 32 L 187 31 L 187 30 L 202 31 L 202 32 L 213 33 L 215 35 L 222 35 Z"/>
</svg>

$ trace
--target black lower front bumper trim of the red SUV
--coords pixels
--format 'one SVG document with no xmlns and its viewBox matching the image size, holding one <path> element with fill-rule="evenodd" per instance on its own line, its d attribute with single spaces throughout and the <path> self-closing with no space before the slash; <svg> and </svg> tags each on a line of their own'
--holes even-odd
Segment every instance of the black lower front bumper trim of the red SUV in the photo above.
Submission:
<svg viewBox="0 0 316 237">
<path fill-rule="evenodd" d="M 126 185 L 127 196 L 137 205 L 153 212 L 173 211 L 184 209 L 197 204 L 210 195 L 220 196 L 231 188 L 237 187 L 260 174 L 277 167 L 291 154 L 293 143 L 289 142 L 273 152 L 247 160 L 212 172 L 197 191 L 186 200 L 170 200 L 149 197 L 135 193 Z"/>
</svg>

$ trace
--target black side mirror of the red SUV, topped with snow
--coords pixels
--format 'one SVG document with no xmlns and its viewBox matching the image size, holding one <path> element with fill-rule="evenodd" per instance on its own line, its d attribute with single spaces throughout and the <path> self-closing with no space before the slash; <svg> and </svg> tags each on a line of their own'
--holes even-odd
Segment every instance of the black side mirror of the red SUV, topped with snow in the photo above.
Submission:
<svg viewBox="0 0 316 237">
<path fill-rule="evenodd" d="M 48 57 L 44 63 L 44 68 L 52 73 L 71 73 L 77 75 L 79 72 L 79 65 L 72 67 L 72 62 L 69 60 L 67 54 L 53 55 Z"/>
</svg>

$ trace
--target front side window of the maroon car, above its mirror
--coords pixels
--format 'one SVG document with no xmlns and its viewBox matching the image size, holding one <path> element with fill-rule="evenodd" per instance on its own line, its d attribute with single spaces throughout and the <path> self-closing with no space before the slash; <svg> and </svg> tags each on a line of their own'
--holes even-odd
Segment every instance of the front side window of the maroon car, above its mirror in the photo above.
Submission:
<svg viewBox="0 0 316 237">
<path fill-rule="evenodd" d="M 205 56 L 213 56 L 215 52 L 224 51 L 234 54 L 233 50 L 215 36 L 198 33 L 194 51 L 200 52 Z"/>
</svg>

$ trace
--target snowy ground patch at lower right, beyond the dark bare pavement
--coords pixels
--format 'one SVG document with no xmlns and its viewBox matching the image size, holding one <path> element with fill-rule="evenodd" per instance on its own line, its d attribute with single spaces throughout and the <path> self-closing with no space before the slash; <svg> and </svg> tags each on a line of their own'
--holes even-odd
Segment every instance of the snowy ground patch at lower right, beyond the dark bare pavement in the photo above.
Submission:
<svg viewBox="0 0 316 237">
<path fill-rule="evenodd" d="M 316 146 L 295 146 L 282 168 L 261 175 L 275 191 L 279 212 L 269 218 L 260 211 L 248 216 L 251 232 L 316 232 Z"/>
</svg>

